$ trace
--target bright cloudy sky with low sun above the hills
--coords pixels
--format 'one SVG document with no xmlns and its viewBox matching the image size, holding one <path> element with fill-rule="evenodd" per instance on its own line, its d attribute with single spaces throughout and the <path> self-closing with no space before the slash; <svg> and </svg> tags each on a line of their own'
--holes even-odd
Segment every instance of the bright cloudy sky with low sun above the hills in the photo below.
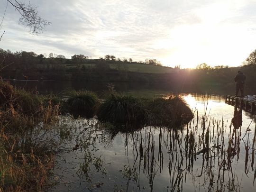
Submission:
<svg viewBox="0 0 256 192">
<path fill-rule="evenodd" d="M 28 0 L 20 0 L 28 2 Z M 30 0 L 52 24 L 38 36 L 7 7 L 0 48 L 70 58 L 239 66 L 256 50 L 256 0 Z M 0 20 L 7 0 L 0 0 Z"/>
</svg>

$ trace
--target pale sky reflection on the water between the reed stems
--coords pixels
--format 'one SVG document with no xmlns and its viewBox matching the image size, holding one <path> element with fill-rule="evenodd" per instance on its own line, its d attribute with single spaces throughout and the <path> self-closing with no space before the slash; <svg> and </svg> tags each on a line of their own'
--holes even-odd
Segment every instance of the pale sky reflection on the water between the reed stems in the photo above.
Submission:
<svg viewBox="0 0 256 192">
<path fill-rule="evenodd" d="M 168 95 L 166 95 L 168 96 Z M 233 118 L 234 114 L 234 107 L 231 105 L 228 105 L 225 103 L 225 97 L 218 96 L 218 95 L 192 95 L 192 94 L 184 94 L 182 95 L 184 100 L 189 104 L 189 106 L 194 110 L 197 109 L 199 113 L 199 117 L 203 114 L 204 107 L 206 108 L 206 104 L 208 101 L 207 106 L 207 115 L 210 114 L 209 121 L 207 122 L 207 125 L 210 124 L 210 130 L 213 131 L 212 128 L 212 118 L 219 122 L 219 127 L 221 127 L 221 120 L 223 117 L 224 120 L 224 145 L 225 145 L 225 151 L 227 151 L 228 148 L 228 139 L 229 139 L 229 126 L 231 125 L 231 119 Z M 210 113 L 209 113 L 210 112 Z M 250 115 L 247 112 L 242 112 L 242 128 L 241 128 L 241 141 L 240 141 L 240 153 L 239 153 L 239 160 L 238 155 L 235 155 L 234 158 L 232 158 L 232 171 L 235 179 L 235 188 L 239 191 L 256 191 L 256 187 L 253 185 L 253 179 L 254 179 L 254 173 L 255 173 L 255 167 L 256 162 L 254 162 L 254 167 L 251 167 L 251 153 L 252 153 L 252 141 L 254 137 L 254 128 L 255 128 L 255 119 L 252 121 L 253 116 Z M 210 123 L 211 121 L 211 123 Z M 251 123 L 252 121 L 252 123 Z M 84 122 L 87 122 L 84 120 Z M 251 125 L 249 126 L 249 124 Z M 66 142 L 66 146 L 69 146 L 68 148 L 72 149 L 73 146 L 79 141 L 79 140 L 86 140 L 87 139 L 87 132 L 84 131 L 84 124 L 82 123 L 82 120 L 76 121 L 76 120 L 68 120 L 67 124 L 69 126 L 73 127 L 73 130 L 76 130 L 76 137 L 73 137 L 72 141 Z M 248 170 L 249 173 L 245 174 L 245 147 L 247 145 L 247 136 L 244 137 L 246 133 L 246 129 L 249 126 L 252 131 L 249 134 L 248 137 L 248 145 L 250 146 L 249 149 L 249 161 L 248 161 Z M 74 129 L 76 127 L 76 129 Z M 186 126 L 185 126 L 186 127 Z M 207 126 L 206 126 L 207 127 Z M 192 128 L 194 128 L 194 125 L 192 125 Z M 90 128 L 89 128 L 90 129 Z M 220 129 L 220 128 L 219 128 Z M 210 146 L 213 146 L 214 143 L 217 142 L 217 125 L 215 123 L 215 129 L 214 133 L 211 132 L 211 141 Z M 231 126 L 231 130 L 233 130 L 233 126 Z M 149 134 L 149 131 L 152 132 L 152 134 Z M 164 155 L 163 159 L 163 169 L 160 168 L 158 165 L 160 165 L 160 162 L 158 161 L 158 151 L 159 151 L 159 134 L 161 133 L 162 136 L 162 152 Z M 80 166 L 83 163 L 84 158 L 84 152 L 79 149 L 77 151 L 69 151 L 68 153 L 64 153 L 63 155 L 57 157 L 59 164 L 56 165 L 55 174 L 59 175 L 60 179 L 57 181 L 57 184 L 51 188 L 52 191 L 114 191 L 115 189 L 123 191 L 149 191 L 150 190 L 150 180 L 149 180 L 149 174 L 143 173 L 143 165 L 144 160 L 142 160 L 142 163 L 139 164 L 139 157 L 136 160 L 136 149 L 134 146 L 137 146 L 139 148 L 139 141 L 136 138 L 141 138 L 143 142 L 145 142 L 145 145 L 143 145 L 144 150 L 146 150 L 147 147 L 147 141 L 150 138 L 151 141 L 154 141 L 155 143 L 155 178 L 153 183 L 153 189 L 155 192 L 162 192 L 167 191 L 167 189 L 170 191 L 170 188 L 172 186 L 172 183 L 174 183 L 175 178 L 178 174 L 178 168 L 176 165 L 172 165 L 173 170 L 171 171 L 171 175 L 169 173 L 169 162 L 174 159 L 172 156 L 170 157 L 170 150 L 168 150 L 168 147 L 170 146 L 170 138 L 169 140 L 167 137 L 170 137 L 170 133 L 166 129 L 156 129 L 156 128 L 144 128 L 141 130 L 141 132 L 135 132 L 133 135 L 131 134 L 124 134 L 119 133 L 116 137 L 114 137 L 113 140 L 110 141 L 110 136 L 106 132 L 97 131 L 94 132 L 92 135 L 95 137 L 95 147 L 96 151 L 91 149 L 92 156 L 101 156 L 101 158 L 104 160 L 104 165 L 106 166 L 107 174 L 101 174 L 94 170 L 94 174 L 92 174 L 92 182 L 88 183 L 86 182 L 84 175 L 77 174 L 77 171 L 79 170 Z M 202 129 L 201 129 L 201 119 L 199 120 L 199 127 L 198 127 L 198 133 L 196 136 L 196 139 L 198 139 L 198 135 L 201 135 Z M 232 131 L 231 131 L 232 133 Z M 84 135 L 83 135 L 84 134 Z M 184 171 L 183 174 L 185 174 L 186 171 L 188 171 L 188 162 L 185 159 L 185 145 L 184 145 L 184 139 L 186 134 L 186 128 L 184 129 L 183 136 L 181 135 L 181 132 L 179 131 L 179 138 L 182 142 L 182 156 L 183 156 L 183 164 L 180 166 Z M 150 137 L 149 137 L 150 135 Z M 133 141 L 133 138 L 135 138 L 135 142 Z M 242 140 L 242 137 L 244 137 L 244 141 Z M 93 139 L 92 139 L 93 140 Z M 168 140 L 168 141 L 167 141 Z M 91 142 L 91 140 L 90 140 Z M 169 143 L 168 143 L 169 142 Z M 244 143 L 245 142 L 245 143 Z M 177 143 L 176 143 L 177 144 Z M 177 149 L 178 146 L 176 145 Z M 255 148 L 255 146 L 254 146 Z M 99 149 L 99 150 L 98 150 Z M 201 149 L 201 148 L 200 148 Z M 200 149 L 197 149 L 196 151 L 199 151 Z M 138 149 L 137 149 L 138 150 Z M 144 151 L 145 152 L 145 151 Z M 146 153 L 146 152 L 145 152 Z M 201 177 L 197 177 L 198 174 L 201 172 L 201 166 L 202 166 L 202 155 L 197 155 L 196 161 L 193 162 L 193 172 L 192 174 L 186 175 L 186 181 L 185 177 L 183 177 L 183 191 L 208 191 L 208 185 L 209 185 L 209 178 L 207 178 L 207 175 L 202 175 Z M 174 159 L 174 163 L 177 165 L 181 164 L 181 155 L 177 153 L 177 156 L 175 156 L 176 159 Z M 161 160 L 160 160 L 161 161 Z M 135 164 L 134 164 L 135 162 Z M 216 183 L 218 179 L 218 158 L 212 162 L 212 170 L 214 175 L 214 184 L 215 187 L 212 189 L 212 191 L 216 191 Z M 205 163 L 206 164 L 206 163 Z M 137 188 L 137 184 L 133 183 L 132 179 L 129 183 L 128 188 L 126 187 L 127 179 L 123 178 L 123 170 L 124 165 L 130 165 L 131 167 L 136 167 L 137 172 L 140 175 L 139 182 L 140 182 L 140 190 Z M 139 170 L 139 165 L 140 171 Z M 179 166 L 178 166 L 179 167 Z M 91 166 L 91 170 L 93 170 L 93 166 Z M 120 171 L 122 170 L 122 171 Z M 223 172 L 223 168 L 220 171 Z M 229 182 L 230 171 L 225 171 L 225 182 L 224 185 L 227 185 Z M 174 177 L 173 177 L 174 176 Z M 231 178 L 231 176 L 230 176 Z M 238 180 L 237 180 L 238 178 Z M 207 185 L 203 185 L 204 179 L 207 180 Z M 193 184 L 193 181 L 195 183 Z M 95 183 L 104 183 L 101 187 L 97 187 Z M 240 186 L 238 186 L 238 183 L 241 183 Z M 116 184 L 116 185 L 115 185 Z M 169 186 L 169 188 L 167 188 Z M 201 187 L 200 187 L 201 186 Z M 200 187 L 200 188 L 199 188 Z M 240 187 L 240 188 L 239 188 Z M 90 190 L 89 190 L 89 189 Z M 177 190 L 177 187 L 175 188 L 175 191 Z M 228 191 L 227 186 L 225 188 L 225 191 Z"/>
</svg>

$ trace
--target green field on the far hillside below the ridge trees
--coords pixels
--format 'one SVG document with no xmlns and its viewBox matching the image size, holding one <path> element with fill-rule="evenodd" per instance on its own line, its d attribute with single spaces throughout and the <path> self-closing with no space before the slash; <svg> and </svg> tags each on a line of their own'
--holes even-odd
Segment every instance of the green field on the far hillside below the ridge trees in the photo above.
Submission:
<svg viewBox="0 0 256 192">
<path fill-rule="evenodd" d="M 172 73 L 173 68 L 156 66 L 156 65 L 146 65 L 146 64 L 109 64 L 110 69 L 127 70 L 130 72 L 138 73 Z M 81 64 L 80 67 L 85 68 L 96 68 L 95 64 Z M 75 68 L 77 64 L 65 64 L 66 68 Z"/>
</svg>

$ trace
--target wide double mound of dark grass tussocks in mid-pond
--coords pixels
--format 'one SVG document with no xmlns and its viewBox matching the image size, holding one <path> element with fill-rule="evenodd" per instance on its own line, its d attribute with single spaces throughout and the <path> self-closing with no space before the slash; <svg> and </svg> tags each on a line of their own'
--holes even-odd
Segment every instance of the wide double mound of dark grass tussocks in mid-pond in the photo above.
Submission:
<svg viewBox="0 0 256 192">
<path fill-rule="evenodd" d="M 133 96 L 111 94 L 98 110 L 98 119 L 122 125 L 178 127 L 188 123 L 193 113 L 179 97 L 138 99 Z"/>
</svg>

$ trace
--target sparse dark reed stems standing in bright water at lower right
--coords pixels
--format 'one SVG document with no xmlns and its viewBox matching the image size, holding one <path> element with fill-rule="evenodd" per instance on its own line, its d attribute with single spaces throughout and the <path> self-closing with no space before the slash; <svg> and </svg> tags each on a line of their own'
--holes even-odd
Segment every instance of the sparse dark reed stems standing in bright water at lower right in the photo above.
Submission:
<svg viewBox="0 0 256 192">
<path fill-rule="evenodd" d="M 238 121 L 241 122 L 241 119 Z M 146 127 L 143 131 L 127 133 L 125 137 L 127 153 L 131 145 L 134 152 L 133 167 L 138 167 L 138 175 L 141 171 L 146 175 L 150 191 L 153 191 L 155 176 L 161 174 L 166 166 L 170 175 L 167 191 L 182 191 L 183 183 L 186 183 L 188 178 L 192 178 L 195 191 L 199 191 L 200 188 L 208 191 L 239 191 L 242 178 L 240 178 L 241 173 L 238 172 L 240 170 L 236 170 L 236 162 L 239 160 L 243 138 L 241 126 L 238 128 L 234 120 L 232 123 L 233 126 L 228 126 L 228 121 L 223 118 L 210 118 L 206 103 L 203 115 L 199 117 L 197 113 L 183 130 L 165 128 L 155 130 L 154 127 Z M 243 139 L 245 140 L 244 172 L 249 176 L 251 169 L 255 180 L 256 128 L 252 141 L 249 133 L 250 129 L 247 129 Z M 199 166 L 200 162 L 201 166 Z M 139 187 L 139 176 L 136 181 Z"/>
</svg>

